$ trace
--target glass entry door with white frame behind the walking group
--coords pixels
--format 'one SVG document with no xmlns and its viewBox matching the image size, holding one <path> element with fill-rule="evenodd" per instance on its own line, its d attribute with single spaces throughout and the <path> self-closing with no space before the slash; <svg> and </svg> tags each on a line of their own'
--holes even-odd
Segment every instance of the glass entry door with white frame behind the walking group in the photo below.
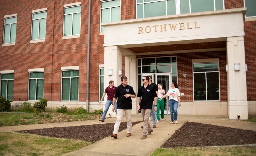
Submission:
<svg viewBox="0 0 256 156">
<path fill-rule="evenodd" d="M 156 84 L 161 83 L 163 85 L 163 89 L 165 91 L 165 93 L 167 93 L 167 91 L 170 88 L 170 82 L 171 82 L 171 76 L 170 73 L 164 74 L 164 73 L 157 73 L 156 74 Z M 168 110 L 168 102 L 169 102 L 169 96 L 167 96 L 164 99 L 164 114 L 167 114 L 167 110 Z M 169 111 L 170 112 L 170 111 Z M 160 111 L 161 114 L 161 111 Z"/>
</svg>

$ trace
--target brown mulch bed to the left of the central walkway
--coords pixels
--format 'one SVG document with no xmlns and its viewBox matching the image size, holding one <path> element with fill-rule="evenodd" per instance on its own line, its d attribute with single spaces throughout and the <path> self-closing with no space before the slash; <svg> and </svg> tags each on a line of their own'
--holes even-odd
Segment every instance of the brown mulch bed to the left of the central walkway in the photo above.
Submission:
<svg viewBox="0 0 256 156">
<path fill-rule="evenodd" d="M 140 123 L 132 122 L 132 126 Z M 127 128 L 126 122 L 122 122 L 119 127 L 119 132 Z M 105 123 L 105 124 L 94 124 L 94 125 L 85 125 L 85 126 L 72 126 L 72 127 L 54 127 L 54 128 L 42 128 L 35 130 L 22 130 L 17 131 L 20 133 L 29 133 L 44 135 L 56 138 L 67 138 L 67 139 L 76 139 L 83 140 L 90 143 L 99 141 L 105 137 L 113 134 L 114 123 Z"/>
</svg>

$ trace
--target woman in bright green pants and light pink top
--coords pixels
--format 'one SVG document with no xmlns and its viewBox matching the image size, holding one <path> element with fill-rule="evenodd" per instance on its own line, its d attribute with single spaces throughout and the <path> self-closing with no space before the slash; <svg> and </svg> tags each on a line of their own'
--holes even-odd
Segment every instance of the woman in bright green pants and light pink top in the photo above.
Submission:
<svg viewBox="0 0 256 156">
<path fill-rule="evenodd" d="M 159 99 L 164 96 L 165 92 L 161 83 L 159 83 L 157 87 L 158 87 L 158 98 L 157 98 L 157 112 L 156 112 L 157 121 L 156 122 L 159 122 L 160 121 L 159 108 L 161 109 L 161 118 L 164 120 L 164 99 L 162 100 L 159 100 Z"/>
</svg>

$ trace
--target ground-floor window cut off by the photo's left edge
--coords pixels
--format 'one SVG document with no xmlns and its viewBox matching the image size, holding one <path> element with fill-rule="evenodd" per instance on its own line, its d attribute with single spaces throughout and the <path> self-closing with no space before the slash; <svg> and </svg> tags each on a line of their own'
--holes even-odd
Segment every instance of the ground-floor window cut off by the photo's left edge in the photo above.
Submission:
<svg viewBox="0 0 256 156">
<path fill-rule="evenodd" d="M 0 96 L 8 100 L 13 100 L 13 73 L 1 74 L 1 93 Z"/>
</svg>

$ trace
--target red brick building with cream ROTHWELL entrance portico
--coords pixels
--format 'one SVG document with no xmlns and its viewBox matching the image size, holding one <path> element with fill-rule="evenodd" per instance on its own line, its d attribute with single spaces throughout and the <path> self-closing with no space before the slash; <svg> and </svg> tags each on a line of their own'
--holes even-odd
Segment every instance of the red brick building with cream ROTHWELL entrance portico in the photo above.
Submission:
<svg viewBox="0 0 256 156">
<path fill-rule="evenodd" d="M 247 119 L 256 114 L 255 6 L 252 0 L 1 2 L 1 96 L 99 109 L 109 80 L 117 86 L 126 75 L 137 91 L 141 77 L 152 75 L 166 92 L 178 82 L 180 114 Z M 136 104 L 137 98 L 133 113 Z"/>
</svg>

